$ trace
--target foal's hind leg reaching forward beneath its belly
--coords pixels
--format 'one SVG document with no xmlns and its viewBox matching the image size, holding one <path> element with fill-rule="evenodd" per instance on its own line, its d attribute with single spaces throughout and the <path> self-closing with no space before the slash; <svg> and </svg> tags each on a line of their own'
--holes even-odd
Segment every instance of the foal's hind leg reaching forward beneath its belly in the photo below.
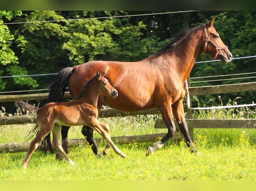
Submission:
<svg viewBox="0 0 256 191">
<path fill-rule="evenodd" d="M 52 129 L 52 146 L 57 149 L 59 155 L 69 161 L 71 164 L 74 162 L 69 158 L 67 153 L 64 151 L 60 141 L 61 125 L 55 124 Z"/>
</svg>

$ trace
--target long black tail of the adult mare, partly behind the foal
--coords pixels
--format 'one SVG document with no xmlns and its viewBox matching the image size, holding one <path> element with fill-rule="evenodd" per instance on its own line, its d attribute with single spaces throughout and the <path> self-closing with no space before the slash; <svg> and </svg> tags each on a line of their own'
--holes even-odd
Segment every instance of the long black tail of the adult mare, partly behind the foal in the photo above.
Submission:
<svg viewBox="0 0 256 191">
<path fill-rule="evenodd" d="M 60 99 L 65 94 L 66 87 L 69 84 L 70 76 L 72 75 L 73 68 L 67 67 L 59 71 L 57 76 L 54 77 L 51 85 L 50 85 L 50 91 L 48 95 L 48 102 L 59 102 Z M 38 126 L 37 126 L 38 127 Z M 39 131 L 39 129 L 38 129 Z M 37 133 L 38 133 L 37 131 Z M 42 151 L 49 150 L 51 153 L 53 153 L 53 148 L 50 141 L 50 133 L 42 140 L 39 149 Z"/>
</svg>

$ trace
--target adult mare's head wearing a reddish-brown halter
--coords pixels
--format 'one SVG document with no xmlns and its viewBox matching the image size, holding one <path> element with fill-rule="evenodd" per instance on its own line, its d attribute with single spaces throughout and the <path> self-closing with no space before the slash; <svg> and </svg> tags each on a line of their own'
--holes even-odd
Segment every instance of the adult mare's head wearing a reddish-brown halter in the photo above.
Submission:
<svg viewBox="0 0 256 191">
<path fill-rule="evenodd" d="M 204 53 L 211 55 L 213 60 L 218 58 L 223 64 L 227 64 L 231 61 L 232 54 L 213 27 L 214 20 L 215 17 L 213 17 L 209 23 L 203 25 L 205 41 L 205 43 L 203 43 L 203 50 Z"/>
</svg>

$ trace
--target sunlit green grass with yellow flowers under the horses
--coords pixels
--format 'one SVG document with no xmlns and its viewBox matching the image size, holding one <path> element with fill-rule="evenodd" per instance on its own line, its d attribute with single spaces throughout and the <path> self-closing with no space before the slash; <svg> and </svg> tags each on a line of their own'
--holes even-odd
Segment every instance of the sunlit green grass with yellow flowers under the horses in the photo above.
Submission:
<svg viewBox="0 0 256 191">
<path fill-rule="evenodd" d="M 137 116 L 100 119 L 109 124 L 111 136 L 166 132 L 155 129 L 155 117 Z M 224 109 L 194 113 L 195 118 L 255 118 L 255 108 Z M 23 142 L 32 124 L 0 127 L 0 143 Z M 81 127 L 72 127 L 69 138 L 83 138 Z M 95 133 L 95 138 L 100 136 Z M 146 157 L 152 143 L 117 145 L 126 153 L 121 158 L 113 149 L 107 156 L 95 156 L 88 145 L 70 148 L 75 162 L 56 161 L 55 155 L 36 151 L 24 173 L 24 153 L 0 154 L 0 180 L 256 180 L 255 129 L 194 129 L 199 155 L 190 154 L 183 140 L 169 140 L 155 154 Z M 104 142 L 100 149 L 103 150 Z"/>
</svg>

